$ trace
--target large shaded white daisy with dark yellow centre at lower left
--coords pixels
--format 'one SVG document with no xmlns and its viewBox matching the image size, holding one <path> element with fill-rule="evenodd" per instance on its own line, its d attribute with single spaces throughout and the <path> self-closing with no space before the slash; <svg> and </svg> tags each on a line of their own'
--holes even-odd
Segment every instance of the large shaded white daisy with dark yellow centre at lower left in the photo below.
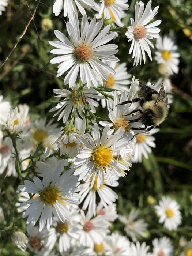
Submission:
<svg viewBox="0 0 192 256">
<path fill-rule="evenodd" d="M 76 193 L 78 184 L 76 177 L 68 170 L 61 174 L 64 167 L 58 165 L 53 176 L 51 176 L 47 168 L 44 169 L 43 180 L 33 177 L 33 182 L 25 180 L 25 185 L 20 185 L 19 189 L 27 193 L 39 194 L 38 198 L 27 200 L 20 206 L 30 204 L 24 214 L 27 218 L 27 224 L 35 225 L 39 219 L 39 231 L 44 229 L 45 224 L 49 230 L 53 221 L 53 214 L 61 222 L 70 219 L 70 211 L 66 204 L 79 204 L 79 195 Z"/>
</svg>

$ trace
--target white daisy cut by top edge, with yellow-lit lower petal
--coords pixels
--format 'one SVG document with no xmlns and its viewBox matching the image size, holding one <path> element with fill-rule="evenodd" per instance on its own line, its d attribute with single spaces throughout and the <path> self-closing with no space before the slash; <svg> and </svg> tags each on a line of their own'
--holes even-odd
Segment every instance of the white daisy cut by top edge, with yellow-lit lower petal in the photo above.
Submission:
<svg viewBox="0 0 192 256">
<path fill-rule="evenodd" d="M 104 19 L 112 19 L 118 26 L 122 26 L 121 23 L 123 10 L 128 10 L 128 0 L 101 0 L 99 15 L 103 15 Z"/>
</svg>

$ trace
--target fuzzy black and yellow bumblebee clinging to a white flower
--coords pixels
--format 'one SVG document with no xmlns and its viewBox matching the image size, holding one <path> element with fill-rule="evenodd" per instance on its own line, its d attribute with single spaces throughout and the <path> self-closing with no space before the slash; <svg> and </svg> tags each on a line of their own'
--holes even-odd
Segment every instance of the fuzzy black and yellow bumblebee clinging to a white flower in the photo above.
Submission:
<svg viewBox="0 0 192 256">
<path fill-rule="evenodd" d="M 167 117 L 167 105 L 168 98 L 164 90 L 163 83 L 161 85 L 159 93 L 153 88 L 139 83 L 139 90 L 137 91 L 136 97 L 132 101 L 124 101 L 118 105 L 124 105 L 133 102 L 139 102 L 140 106 L 129 114 L 135 112 L 140 112 L 140 117 L 131 120 L 131 122 L 140 121 L 145 127 L 140 129 L 146 129 L 148 126 L 148 131 L 153 129 L 155 126 L 160 125 L 165 121 Z"/>
</svg>

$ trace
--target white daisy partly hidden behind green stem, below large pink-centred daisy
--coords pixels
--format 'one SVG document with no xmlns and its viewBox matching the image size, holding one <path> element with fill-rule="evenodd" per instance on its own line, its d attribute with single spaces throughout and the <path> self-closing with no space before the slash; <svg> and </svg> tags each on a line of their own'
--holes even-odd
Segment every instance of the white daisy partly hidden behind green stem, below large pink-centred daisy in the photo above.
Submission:
<svg viewBox="0 0 192 256">
<path fill-rule="evenodd" d="M 63 102 L 59 102 L 54 108 L 49 110 L 50 112 L 57 111 L 54 114 L 54 116 L 57 116 L 59 114 L 57 121 L 63 118 L 63 123 L 67 122 L 70 114 L 74 110 L 75 102 L 77 101 L 77 98 L 73 98 L 71 100 L 69 99 L 72 97 L 78 96 L 78 94 L 80 94 L 79 87 L 80 86 L 77 83 L 76 85 L 71 87 L 70 91 L 67 89 L 63 89 L 63 90 L 53 89 L 53 93 L 57 94 L 57 96 L 55 96 L 56 98 L 64 98 Z M 83 92 L 86 97 L 87 104 L 91 108 L 91 112 L 95 113 L 96 112 L 95 107 L 98 107 L 99 103 L 94 99 L 103 99 L 104 97 L 101 95 L 98 95 L 98 92 L 95 89 L 93 88 L 88 89 L 87 86 L 84 86 Z M 82 97 L 80 96 L 78 101 L 78 107 L 77 107 L 77 110 L 79 113 L 81 113 L 81 109 L 83 110 L 83 112 L 85 112 L 84 105 L 82 102 Z"/>
</svg>

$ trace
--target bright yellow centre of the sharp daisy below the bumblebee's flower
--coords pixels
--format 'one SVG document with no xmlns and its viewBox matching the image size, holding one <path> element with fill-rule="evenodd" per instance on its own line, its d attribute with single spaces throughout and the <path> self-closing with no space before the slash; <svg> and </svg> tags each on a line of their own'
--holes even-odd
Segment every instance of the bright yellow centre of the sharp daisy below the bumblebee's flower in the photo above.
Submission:
<svg viewBox="0 0 192 256">
<path fill-rule="evenodd" d="M 112 149 L 109 149 L 107 147 L 99 147 L 96 148 L 93 155 L 92 159 L 94 164 L 97 167 L 100 167 L 102 170 L 112 161 L 113 156 L 112 156 Z"/>
</svg>

